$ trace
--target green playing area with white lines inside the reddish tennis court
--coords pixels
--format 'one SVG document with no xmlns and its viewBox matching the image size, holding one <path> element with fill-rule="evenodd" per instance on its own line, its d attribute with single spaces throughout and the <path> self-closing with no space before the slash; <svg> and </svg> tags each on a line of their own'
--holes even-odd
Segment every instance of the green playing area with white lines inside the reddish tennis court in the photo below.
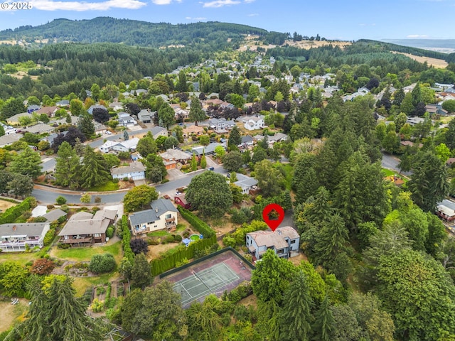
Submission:
<svg viewBox="0 0 455 341">
<path fill-rule="evenodd" d="M 181 293 L 183 305 L 205 297 L 209 293 L 216 293 L 220 288 L 239 279 L 239 276 L 224 263 L 216 264 L 200 272 L 193 271 L 192 275 L 174 285 L 174 291 Z"/>
</svg>

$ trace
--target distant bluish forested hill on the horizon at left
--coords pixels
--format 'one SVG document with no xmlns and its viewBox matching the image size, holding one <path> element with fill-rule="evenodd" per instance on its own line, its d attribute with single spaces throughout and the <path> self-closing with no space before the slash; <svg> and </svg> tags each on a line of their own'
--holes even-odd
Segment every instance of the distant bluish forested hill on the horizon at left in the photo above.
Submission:
<svg viewBox="0 0 455 341">
<path fill-rule="evenodd" d="M 167 45 L 236 42 L 245 34 L 266 36 L 268 31 L 236 23 L 149 23 L 129 19 L 99 17 L 91 20 L 71 21 L 56 19 L 41 26 L 21 26 L 14 30 L 0 31 L 0 40 L 50 39 L 57 42 L 125 43 L 161 47 Z"/>
</svg>

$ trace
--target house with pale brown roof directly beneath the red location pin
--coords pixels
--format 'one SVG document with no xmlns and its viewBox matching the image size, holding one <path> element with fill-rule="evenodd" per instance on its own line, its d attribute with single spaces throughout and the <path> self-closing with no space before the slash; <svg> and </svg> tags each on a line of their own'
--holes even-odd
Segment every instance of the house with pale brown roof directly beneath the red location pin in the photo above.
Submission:
<svg viewBox="0 0 455 341">
<path fill-rule="evenodd" d="M 281 258 L 289 258 L 299 253 L 300 236 L 293 227 L 285 226 L 275 231 L 249 232 L 246 243 L 254 261 L 269 249 Z"/>
</svg>

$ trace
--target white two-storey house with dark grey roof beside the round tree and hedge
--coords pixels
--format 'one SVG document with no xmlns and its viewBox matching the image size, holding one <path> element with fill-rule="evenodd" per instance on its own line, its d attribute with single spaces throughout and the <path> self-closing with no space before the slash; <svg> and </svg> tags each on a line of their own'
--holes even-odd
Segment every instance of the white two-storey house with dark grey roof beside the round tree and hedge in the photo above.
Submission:
<svg viewBox="0 0 455 341">
<path fill-rule="evenodd" d="M 134 236 L 158 231 L 170 230 L 178 224 L 178 210 L 171 200 L 158 199 L 150 203 L 150 209 L 129 215 L 129 224 Z"/>
</svg>

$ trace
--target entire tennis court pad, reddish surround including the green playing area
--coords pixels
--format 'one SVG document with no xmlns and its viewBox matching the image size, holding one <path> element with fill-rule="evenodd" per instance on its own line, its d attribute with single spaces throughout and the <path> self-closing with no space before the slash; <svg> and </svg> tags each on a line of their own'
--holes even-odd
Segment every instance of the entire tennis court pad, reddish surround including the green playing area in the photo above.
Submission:
<svg viewBox="0 0 455 341">
<path fill-rule="evenodd" d="M 174 283 L 173 290 L 181 294 L 183 308 L 188 308 L 193 302 L 203 302 L 210 293 L 220 297 L 224 291 L 250 281 L 251 271 L 236 254 L 225 251 L 163 279 Z"/>
</svg>

